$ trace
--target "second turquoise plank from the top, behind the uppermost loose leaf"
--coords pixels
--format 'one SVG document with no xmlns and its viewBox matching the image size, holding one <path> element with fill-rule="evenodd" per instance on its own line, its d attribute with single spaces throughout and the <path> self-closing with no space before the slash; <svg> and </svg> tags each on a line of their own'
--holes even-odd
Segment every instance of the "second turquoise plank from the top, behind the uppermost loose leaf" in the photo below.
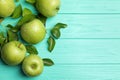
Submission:
<svg viewBox="0 0 120 80">
<path fill-rule="evenodd" d="M 61 38 L 120 38 L 120 15 L 59 14 L 47 20 L 47 32 L 58 22 L 68 24 Z M 48 33 L 49 34 L 49 33 Z"/>
</svg>

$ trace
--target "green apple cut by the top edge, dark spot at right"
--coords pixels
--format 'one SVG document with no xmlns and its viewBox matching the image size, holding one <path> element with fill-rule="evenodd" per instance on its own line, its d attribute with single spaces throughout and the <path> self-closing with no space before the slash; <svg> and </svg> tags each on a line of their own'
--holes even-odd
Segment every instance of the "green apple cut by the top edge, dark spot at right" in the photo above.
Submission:
<svg viewBox="0 0 120 80">
<path fill-rule="evenodd" d="M 36 0 L 36 8 L 42 15 L 52 17 L 60 9 L 60 0 Z"/>
</svg>

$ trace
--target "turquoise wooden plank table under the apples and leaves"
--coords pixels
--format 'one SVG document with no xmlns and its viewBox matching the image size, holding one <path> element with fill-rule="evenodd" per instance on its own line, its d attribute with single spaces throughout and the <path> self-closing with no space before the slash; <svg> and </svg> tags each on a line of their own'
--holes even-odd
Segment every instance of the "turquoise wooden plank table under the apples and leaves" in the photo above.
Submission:
<svg viewBox="0 0 120 80">
<path fill-rule="evenodd" d="M 49 31 L 57 22 L 68 24 L 52 53 L 46 39 L 36 48 L 42 58 L 55 65 L 42 75 L 26 77 L 20 66 L 7 66 L 0 60 L 0 80 L 120 80 L 120 0 L 61 0 L 61 10 L 47 20 Z M 34 8 L 21 0 L 24 7 Z M 14 25 L 6 18 L 1 23 Z"/>
</svg>

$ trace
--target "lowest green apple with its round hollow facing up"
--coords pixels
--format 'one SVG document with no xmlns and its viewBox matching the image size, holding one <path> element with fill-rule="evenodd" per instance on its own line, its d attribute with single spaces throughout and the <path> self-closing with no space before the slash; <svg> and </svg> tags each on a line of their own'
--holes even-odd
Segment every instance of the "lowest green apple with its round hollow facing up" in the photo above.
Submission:
<svg viewBox="0 0 120 80">
<path fill-rule="evenodd" d="M 38 76 L 43 72 L 43 61 L 36 54 L 30 54 L 25 57 L 22 63 L 22 70 L 27 76 Z"/>
</svg>

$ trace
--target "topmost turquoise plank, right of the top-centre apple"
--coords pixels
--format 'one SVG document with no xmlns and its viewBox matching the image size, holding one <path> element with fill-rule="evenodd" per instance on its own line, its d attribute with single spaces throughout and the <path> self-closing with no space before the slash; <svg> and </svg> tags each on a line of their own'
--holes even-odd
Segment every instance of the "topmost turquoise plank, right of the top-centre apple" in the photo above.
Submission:
<svg viewBox="0 0 120 80">
<path fill-rule="evenodd" d="M 119 0 L 61 0 L 59 13 L 120 13 Z"/>
</svg>

